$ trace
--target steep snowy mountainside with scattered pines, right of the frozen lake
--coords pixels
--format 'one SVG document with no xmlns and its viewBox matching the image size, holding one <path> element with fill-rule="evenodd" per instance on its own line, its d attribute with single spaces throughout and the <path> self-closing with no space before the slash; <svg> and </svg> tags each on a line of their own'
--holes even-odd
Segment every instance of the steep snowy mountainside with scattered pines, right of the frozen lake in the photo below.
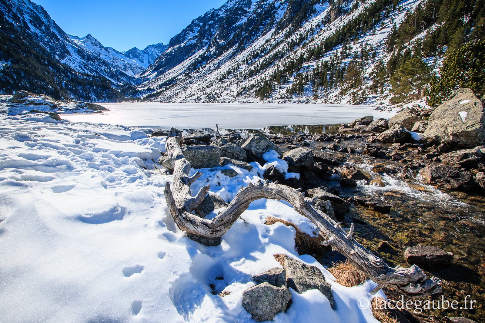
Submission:
<svg viewBox="0 0 485 323">
<path fill-rule="evenodd" d="M 229 0 L 173 37 L 131 94 L 162 102 L 412 101 L 452 49 L 483 37 L 483 7 L 483 0 Z"/>
</svg>

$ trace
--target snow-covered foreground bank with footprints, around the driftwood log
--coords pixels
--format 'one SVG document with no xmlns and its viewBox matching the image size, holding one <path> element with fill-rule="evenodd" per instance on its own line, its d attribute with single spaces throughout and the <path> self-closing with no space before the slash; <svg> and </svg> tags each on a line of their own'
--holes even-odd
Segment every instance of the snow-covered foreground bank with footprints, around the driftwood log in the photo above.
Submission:
<svg viewBox="0 0 485 323">
<path fill-rule="evenodd" d="M 276 216 L 315 229 L 283 202 L 253 202 L 220 246 L 184 237 L 163 196 L 172 181 L 156 162 L 164 142 L 118 125 L 0 116 L 1 321 L 253 322 L 242 292 L 285 253 L 322 270 L 336 310 L 316 290 L 291 291 L 275 322 L 377 322 L 357 306 L 374 283 L 340 286 L 298 256 L 293 228 L 263 223 Z M 233 168 L 231 179 L 203 169 L 194 189 L 209 183 L 230 200 L 259 180 L 257 169 Z"/>
</svg>

